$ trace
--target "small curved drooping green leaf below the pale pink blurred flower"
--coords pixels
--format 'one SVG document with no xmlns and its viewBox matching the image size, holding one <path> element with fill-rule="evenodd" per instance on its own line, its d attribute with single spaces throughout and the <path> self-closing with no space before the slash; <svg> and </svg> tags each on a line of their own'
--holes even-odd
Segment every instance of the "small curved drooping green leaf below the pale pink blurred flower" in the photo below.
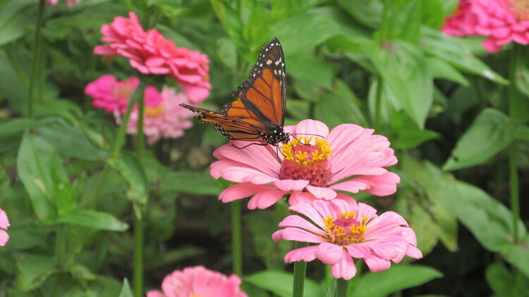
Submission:
<svg viewBox="0 0 529 297">
<path fill-rule="evenodd" d="M 130 201 L 147 203 L 149 184 L 138 159 L 132 153 L 123 151 L 121 158 L 111 158 L 108 162 L 127 181 L 127 197 Z"/>
</svg>

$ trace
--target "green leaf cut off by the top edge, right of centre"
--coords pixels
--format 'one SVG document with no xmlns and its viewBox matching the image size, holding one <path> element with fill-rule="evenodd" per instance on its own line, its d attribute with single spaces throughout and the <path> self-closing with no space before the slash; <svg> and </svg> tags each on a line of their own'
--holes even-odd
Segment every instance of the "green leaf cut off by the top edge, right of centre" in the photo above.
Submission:
<svg viewBox="0 0 529 297">
<path fill-rule="evenodd" d="M 347 13 L 360 23 L 374 29 L 380 26 L 384 5 L 378 0 L 338 0 Z"/>
</svg>

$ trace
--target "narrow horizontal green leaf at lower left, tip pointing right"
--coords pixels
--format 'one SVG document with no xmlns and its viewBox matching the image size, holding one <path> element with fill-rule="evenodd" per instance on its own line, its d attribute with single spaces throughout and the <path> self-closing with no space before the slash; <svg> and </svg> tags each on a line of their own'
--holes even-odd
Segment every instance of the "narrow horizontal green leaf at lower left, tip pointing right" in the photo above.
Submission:
<svg viewBox="0 0 529 297">
<path fill-rule="evenodd" d="M 58 217 L 56 222 L 110 231 L 128 229 L 128 224 L 116 219 L 114 215 L 96 210 L 72 210 L 70 213 Z"/>
</svg>

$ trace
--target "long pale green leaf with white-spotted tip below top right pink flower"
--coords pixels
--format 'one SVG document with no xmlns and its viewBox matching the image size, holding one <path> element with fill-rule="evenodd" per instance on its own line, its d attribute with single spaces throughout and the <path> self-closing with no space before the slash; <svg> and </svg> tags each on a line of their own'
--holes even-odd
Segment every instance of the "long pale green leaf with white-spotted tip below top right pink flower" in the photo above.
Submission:
<svg viewBox="0 0 529 297">
<path fill-rule="evenodd" d="M 456 37 L 450 37 L 432 28 L 422 27 L 419 45 L 425 53 L 446 61 L 464 72 L 480 75 L 499 84 L 508 84 L 497 72 L 476 58 Z"/>
</svg>

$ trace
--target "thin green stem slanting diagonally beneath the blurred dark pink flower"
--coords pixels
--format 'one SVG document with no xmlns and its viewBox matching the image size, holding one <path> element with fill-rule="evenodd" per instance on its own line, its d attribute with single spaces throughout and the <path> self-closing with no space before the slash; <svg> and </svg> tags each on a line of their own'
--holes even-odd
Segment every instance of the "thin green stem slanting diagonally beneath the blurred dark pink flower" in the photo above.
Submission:
<svg viewBox="0 0 529 297">
<path fill-rule="evenodd" d="M 144 89 L 143 87 L 144 87 L 143 83 L 140 84 L 140 86 L 138 86 L 138 88 L 134 91 L 134 94 L 130 97 L 130 100 L 128 101 L 127 110 L 125 112 L 125 115 L 123 115 L 123 119 L 121 120 L 121 125 L 119 125 L 119 129 L 116 134 L 116 139 L 114 140 L 114 143 L 112 144 L 110 148 L 109 158 L 107 158 L 107 161 L 104 163 L 103 172 L 101 174 L 101 177 L 99 177 L 99 182 L 97 183 L 94 196 L 92 196 L 92 201 L 90 201 L 90 208 L 95 208 L 97 206 L 97 201 L 99 200 L 99 196 L 101 195 L 104 184 L 107 182 L 107 174 L 109 171 L 109 160 L 116 158 L 118 156 L 118 153 L 121 150 L 121 146 L 123 146 L 123 142 L 125 142 L 125 132 L 127 130 L 128 119 L 130 118 L 130 112 L 132 112 L 134 103 L 136 103 L 136 101 L 138 101 L 140 96 L 142 96 L 143 89 Z"/>
</svg>

